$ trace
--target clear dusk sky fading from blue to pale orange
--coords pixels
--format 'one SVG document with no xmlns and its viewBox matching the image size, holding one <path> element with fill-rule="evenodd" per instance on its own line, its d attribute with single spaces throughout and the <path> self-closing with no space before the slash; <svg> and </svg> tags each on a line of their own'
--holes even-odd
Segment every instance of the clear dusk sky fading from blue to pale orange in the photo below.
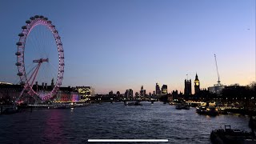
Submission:
<svg viewBox="0 0 256 144">
<path fill-rule="evenodd" d="M 18 34 L 36 14 L 62 38 L 62 86 L 148 94 L 158 82 L 183 92 L 186 74 L 194 82 L 197 73 L 207 88 L 218 81 L 214 54 L 222 84 L 255 81 L 254 0 L 0 1 L 0 82 L 18 82 Z"/>
</svg>

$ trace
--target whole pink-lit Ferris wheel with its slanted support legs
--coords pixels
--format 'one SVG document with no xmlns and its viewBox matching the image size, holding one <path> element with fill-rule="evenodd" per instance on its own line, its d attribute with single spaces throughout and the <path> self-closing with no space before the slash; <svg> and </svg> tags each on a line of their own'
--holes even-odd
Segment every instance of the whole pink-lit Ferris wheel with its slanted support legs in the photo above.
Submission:
<svg viewBox="0 0 256 144">
<path fill-rule="evenodd" d="M 62 85 L 64 73 L 64 51 L 58 30 L 48 18 L 35 15 L 26 21 L 18 36 L 17 75 L 24 86 L 18 102 L 23 94 L 42 100 L 52 98 Z"/>
</svg>

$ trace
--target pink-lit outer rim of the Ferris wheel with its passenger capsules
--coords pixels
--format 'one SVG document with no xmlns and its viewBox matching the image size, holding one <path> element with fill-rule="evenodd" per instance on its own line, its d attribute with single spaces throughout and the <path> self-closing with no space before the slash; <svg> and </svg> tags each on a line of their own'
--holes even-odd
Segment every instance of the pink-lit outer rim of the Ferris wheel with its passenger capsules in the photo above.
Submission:
<svg viewBox="0 0 256 144">
<path fill-rule="evenodd" d="M 55 26 L 52 24 L 48 18 L 45 18 L 43 16 L 35 15 L 34 17 L 31 17 L 30 20 L 26 21 L 26 26 L 22 26 L 22 33 L 18 34 L 19 40 L 16 43 L 18 46 L 18 50 L 15 53 L 17 55 L 17 63 L 16 66 L 18 66 L 18 76 L 21 80 L 21 83 L 25 84 L 24 89 L 29 89 L 31 94 L 39 95 L 37 92 L 33 90 L 33 86 L 30 85 L 27 75 L 26 75 L 26 69 L 25 69 L 25 62 L 24 62 L 24 55 L 25 55 L 25 48 L 26 48 L 26 38 L 29 36 L 30 31 L 34 29 L 35 26 L 42 25 L 46 26 L 48 30 L 51 31 L 51 33 L 54 36 L 54 40 L 57 45 L 58 49 L 58 76 L 56 78 L 56 82 L 54 85 L 54 88 L 50 91 L 49 94 L 45 94 L 42 99 L 48 99 L 53 94 L 57 92 L 59 87 L 62 85 L 62 79 L 64 74 L 64 50 L 62 47 L 62 41 L 58 34 L 58 30 L 55 28 Z"/>
</svg>

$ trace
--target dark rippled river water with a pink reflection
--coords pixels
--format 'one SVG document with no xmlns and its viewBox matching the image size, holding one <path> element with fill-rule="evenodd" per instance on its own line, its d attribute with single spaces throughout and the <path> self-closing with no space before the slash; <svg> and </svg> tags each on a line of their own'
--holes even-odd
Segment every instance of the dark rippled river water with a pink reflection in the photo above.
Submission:
<svg viewBox="0 0 256 144">
<path fill-rule="evenodd" d="M 176 110 L 175 106 L 162 102 L 142 104 L 102 103 L 0 115 L 0 143 L 87 143 L 88 139 L 132 138 L 168 139 L 168 142 L 150 143 L 205 144 L 210 143 L 211 130 L 224 125 L 250 130 L 249 118 L 242 115 L 209 117 L 197 114 L 193 107 Z"/>
</svg>

